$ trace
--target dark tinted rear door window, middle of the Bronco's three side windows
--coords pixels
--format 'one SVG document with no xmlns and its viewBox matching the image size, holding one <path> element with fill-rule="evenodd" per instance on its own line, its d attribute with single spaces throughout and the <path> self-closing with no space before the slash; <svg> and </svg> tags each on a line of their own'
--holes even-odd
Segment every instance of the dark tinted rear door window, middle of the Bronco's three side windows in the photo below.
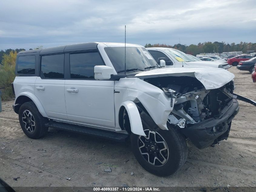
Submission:
<svg viewBox="0 0 256 192">
<path fill-rule="evenodd" d="M 42 56 L 41 71 L 45 78 L 64 78 L 64 54 Z"/>
</svg>

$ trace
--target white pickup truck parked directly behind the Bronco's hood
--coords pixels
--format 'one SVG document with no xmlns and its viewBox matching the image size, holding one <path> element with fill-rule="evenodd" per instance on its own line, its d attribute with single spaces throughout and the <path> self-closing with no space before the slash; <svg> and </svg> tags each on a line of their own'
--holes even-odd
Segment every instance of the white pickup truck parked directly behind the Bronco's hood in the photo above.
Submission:
<svg viewBox="0 0 256 192">
<path fill-rule="evenodd" d="M 186 67 L 228 69 L 231 67 L 227 62 L 198 61 L 177 49 L 166 47 L 152 47 L 146 49 L 158 64 L 160 64 L 160 60 L 165 60 L 167 68 Z"/>
</svg>

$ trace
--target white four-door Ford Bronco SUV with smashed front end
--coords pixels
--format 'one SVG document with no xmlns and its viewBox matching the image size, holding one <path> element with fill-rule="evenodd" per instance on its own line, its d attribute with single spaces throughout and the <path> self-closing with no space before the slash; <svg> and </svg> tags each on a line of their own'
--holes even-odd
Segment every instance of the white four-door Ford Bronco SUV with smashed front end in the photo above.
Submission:
<svg viewBox="0 0 256 192">
<path fill-rule="evenodd" d="M 124 141 L 149 172 L 166 176 L 228 138 L 239 106 L 221 68 L 165 68 L 141 45 L 81 43 L 19 52 L 13 109 L 33 139 L 49 127 Z M 126 68 L 125 68 L 126 66 Z"/>
</svg>

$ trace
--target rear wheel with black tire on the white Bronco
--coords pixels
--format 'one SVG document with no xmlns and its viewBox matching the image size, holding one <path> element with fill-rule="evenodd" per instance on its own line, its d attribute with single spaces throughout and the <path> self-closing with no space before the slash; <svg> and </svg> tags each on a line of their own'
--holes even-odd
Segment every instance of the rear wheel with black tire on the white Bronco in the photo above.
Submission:
<svg viewBox="0 0 256 192">
<path fill-rule="evenodd" d="M 48 127 L 45 127 L 45 118 L 32 101 L 23 103 L 20 107 L 19 122 L 25 135 L 32 139 L 42 137 L 48 131 Z"/>
</svg>

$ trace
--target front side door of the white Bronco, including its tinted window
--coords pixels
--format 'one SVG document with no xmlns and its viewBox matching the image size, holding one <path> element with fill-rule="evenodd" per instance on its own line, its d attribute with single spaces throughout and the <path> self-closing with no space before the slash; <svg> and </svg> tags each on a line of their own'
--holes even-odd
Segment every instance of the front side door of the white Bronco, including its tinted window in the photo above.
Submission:
<svg viewBox="0 0 256 192">
<path fill-rule="evenodd" d="M 95 80 L 94 66 L 104 65 L 97 50 L 68 53 L 65 80 L 68 120 L 91 127 L 115 128 L 114 81 Z"/>
</svg>

